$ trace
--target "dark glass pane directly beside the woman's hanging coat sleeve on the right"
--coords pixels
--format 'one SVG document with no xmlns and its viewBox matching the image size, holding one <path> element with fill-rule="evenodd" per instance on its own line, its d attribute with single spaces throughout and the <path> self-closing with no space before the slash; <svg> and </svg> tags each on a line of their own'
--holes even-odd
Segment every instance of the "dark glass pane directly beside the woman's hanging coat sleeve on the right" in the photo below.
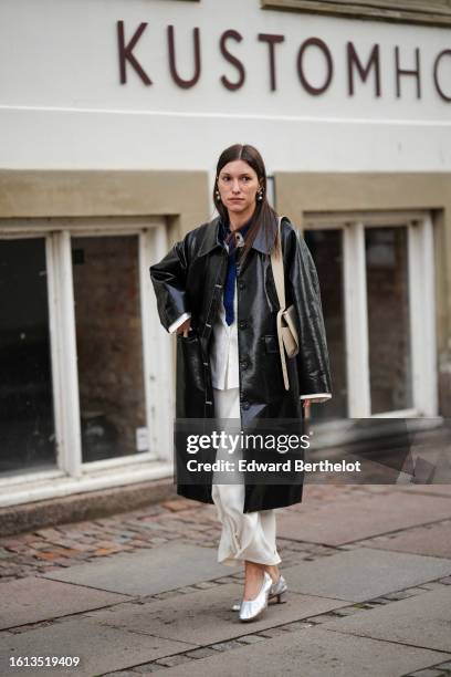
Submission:
<svg viewBox="0 0 451 677">
<path fill-rule="evenodd" d="M 339 229 L 305 230 L 319 279 L 321 300 L 331 361 L 332 399 L 312 405 L 312 420 L 347 416 L 343 232 Z"/>
</svg>

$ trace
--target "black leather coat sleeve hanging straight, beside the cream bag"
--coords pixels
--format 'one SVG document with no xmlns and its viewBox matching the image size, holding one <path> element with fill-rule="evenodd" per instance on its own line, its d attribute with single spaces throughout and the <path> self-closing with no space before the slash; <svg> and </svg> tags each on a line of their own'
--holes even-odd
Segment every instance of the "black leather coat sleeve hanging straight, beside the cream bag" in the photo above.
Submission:
<svg viewBox="0 0 451 677">
<path fill-rule="evenodd" d="M 300 395 L 332 396 L 332 378 L 324 326 L 319 281 L 312 254 L 296 228 L 290 233 L 287 282 L 298 319 L 300 352 L 296 356 Z"/>
</svg>

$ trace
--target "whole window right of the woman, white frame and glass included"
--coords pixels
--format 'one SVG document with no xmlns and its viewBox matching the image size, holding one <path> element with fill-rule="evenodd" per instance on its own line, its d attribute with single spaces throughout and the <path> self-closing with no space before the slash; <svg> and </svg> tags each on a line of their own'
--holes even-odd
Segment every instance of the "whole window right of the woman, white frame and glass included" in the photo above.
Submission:
<svg viewBox="0 0 451 677">
<path fill-rule="evenodd" d="M 333 398 L 315 418 L 437 416 L 432 222 L 427 212 L 305 213 Z"/>
</svg>

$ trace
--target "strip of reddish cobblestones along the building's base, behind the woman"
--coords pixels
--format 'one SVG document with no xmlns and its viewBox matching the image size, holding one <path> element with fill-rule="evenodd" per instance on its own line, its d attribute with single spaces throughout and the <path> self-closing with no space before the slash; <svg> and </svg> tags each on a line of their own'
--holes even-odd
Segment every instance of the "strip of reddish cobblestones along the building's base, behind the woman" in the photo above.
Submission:
<svg viewBox="0 0 451 677">
<path fill-rule="evenodd" d="M 280 510 L 279 513 L 308 510 L 327 501 L 339 501 L 349 496 L 384 494 L 392 491 L 382 486 L 314 486 L 306 487 L 302 503 Z M 214 506 L 187 499 L 166 501 L 140 510 L 120 513 L 98 520 L 59 524 L 52 528 L 0 539 L 0 577 L 4 581 L 61 567 L 90 562 L 117 552 L 133 552 L 140 548 L 154 548 L 183 538 L 193 543 L 216 548 L 220 524 Z M 331 549 L 300 544 L 279 539 L 284 564 L 287 552 L 325 552 Z M 335 549 L 332 549 L 333 551 Z"/>
</svg>

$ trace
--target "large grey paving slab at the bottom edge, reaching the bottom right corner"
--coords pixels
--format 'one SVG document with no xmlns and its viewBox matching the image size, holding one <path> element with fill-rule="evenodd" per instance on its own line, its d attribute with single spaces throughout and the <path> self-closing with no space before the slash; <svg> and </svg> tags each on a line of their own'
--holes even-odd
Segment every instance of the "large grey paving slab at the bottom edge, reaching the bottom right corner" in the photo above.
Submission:
<svg viewBox="0 0 451 677">
<path fill-rule="evenodd" d="M 323 627 L 323 626 L 322 626 Z M 165 670 L 165 677 L 399 677 L 447 660 L 447 654 L 323 631 L 284 633 Z"/>
</svg>

